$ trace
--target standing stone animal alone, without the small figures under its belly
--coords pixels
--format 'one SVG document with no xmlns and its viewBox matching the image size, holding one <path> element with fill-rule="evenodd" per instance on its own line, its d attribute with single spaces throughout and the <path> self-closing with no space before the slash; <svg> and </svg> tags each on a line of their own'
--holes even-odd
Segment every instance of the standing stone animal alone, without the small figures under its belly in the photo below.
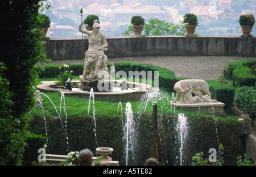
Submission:
<svg viewBox="0 0 256 177">
<path fill-rule="evenodd" d="M 184 89 L 186 87 L 189 88 L 189 84 L 192 86 L 192 88 L 194 90 L 198 86 L 201 87 L 201 94 L 202 95 L 207 94 L 209 96 L 209 98 L 211 99 L 211 94 L 210 94 L 210 91 L 209 91 L 210 87 L 209 87 L 207 82 L 205 82 L 202 79 L 184 79 L 184 80 L 176 82 L 175 85 L 174 85 L 174 90 L 177 92 L 176 98 L 174 100 L 175 103 L 180 98 L 180 96 L 181 96 L 180 102 L 183 101 L 183 96 L 184 96 L 184 93 L 185 93 Z"/>
</svg>

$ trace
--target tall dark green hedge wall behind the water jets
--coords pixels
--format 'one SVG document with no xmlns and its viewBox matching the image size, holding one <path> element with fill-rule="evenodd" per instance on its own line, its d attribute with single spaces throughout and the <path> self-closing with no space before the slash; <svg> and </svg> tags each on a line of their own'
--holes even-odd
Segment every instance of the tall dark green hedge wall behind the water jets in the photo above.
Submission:
<svg viewBox="0 0 256 177">
<path fill-rule="evenodd" d="M 37 108 L 39 109 L 39 108 Z M 124 110 L 123 110 L 124 111 Z M 31 121 L 31 132 L 45 134 L 43 118 L 38 113 L 32 111 L 34 119 Z M 135 138 L 133 149 L 134 154 L 130 155 L 129 165 L 144 165 L 150 157 L 150 137 L 152 115 L 148 113 L 134 113 Z M 159 131 L 159 162 L 163 165 L 179 165 L 179 135 L 176 130 L 177 117 L 170 114 L 158 114 Z M 204 151 L 208 153 L 210 148 L 218 148 L 216 127 L 213 117 L 187 116 L 188 121 L 188 141 L 184 145 L 184 157 L 192 158 L 195 153 Z M 48 140 L 50 154 L 67 155 L 67 144 L 65 133 L 61 127 L 59 119 L 53 119 L 52 115 L 47 115 Z M 110 155 L 114 161 L 119 161 L 119 165 L 125 165 L 125 142 L 123 141 L 124 124 L 122 116 L 117 114 L 96 115 L 97 141 L 93 133 L 94 125 L 92 116 L 80 117 L 72 115 L 68 118 L 68 140 L 70 151 L 79 151 L 88 147 L 95 152 L 96 147 L 106 146 L 114 149 Z M 238 136 L 240 124 L 237 121 L 221 119 L 217 125 L 218 140 L 224 146 L 225 165 L 235 165 L 236 157 L 243 153 L 242 143 Z M 94 153 L 94 156 L 97 154 Z M 189 162 L 190 163 L 190 162 Z"/>
</svg>

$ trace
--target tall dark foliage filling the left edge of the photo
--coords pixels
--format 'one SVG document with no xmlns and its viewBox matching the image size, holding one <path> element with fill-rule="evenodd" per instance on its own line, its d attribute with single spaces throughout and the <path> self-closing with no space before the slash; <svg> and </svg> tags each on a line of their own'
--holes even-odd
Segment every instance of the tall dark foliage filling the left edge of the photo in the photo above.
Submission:
<svg viewBox="0 0 256 177">
<path fill-rule="evenodd" d="M 35 103 L 35 91 L 32 87 L 36 78 L 34 66 L 39 61 L 48 61 L 44 43 L 40 39 L 43 32 L 37 30 L 38 2 L 38 0 L 0 2 L 0 32 L 5 34 L 1 40 L 0 53 L 1 61 L 7 68 L 3 71 L 3 78 L 9 81 L 6 94 L 13 95 L 12 104 L 9 104 L 11 116 L 1 117 L 3 129 L 1 128 L 0 134 L 5 137 L 1 139 L 2 165 L 21 165 L 26 145 L 27 113 Z"/>
</svg>

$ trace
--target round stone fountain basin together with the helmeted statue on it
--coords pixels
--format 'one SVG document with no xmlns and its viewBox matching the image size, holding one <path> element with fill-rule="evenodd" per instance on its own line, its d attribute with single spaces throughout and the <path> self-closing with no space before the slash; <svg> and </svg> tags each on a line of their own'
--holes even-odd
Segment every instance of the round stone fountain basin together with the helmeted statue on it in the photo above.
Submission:
<svg viewBox="0 0 256 177">
<path fill-rule="evenodd" d="M 114 80 L 112 78 L 113 76 L 109 74 L 107 67 L 108 57 L 104 53 L 108 50 L 109 44 L 104 33 L 99 31 L 100 24 L 97 23 L 97 20 L 94 21 L 93 31 L 83 30 L 81 28 L 83 22 L 79 26 L 79 31 L 88 35 L 89 38 L 89 47 L 84 58 L 84 71 L 79 76 L 79 81 L 71 82 L 68 79 L 65 82 L 65 88 L 58 87 L 56 81 L 42 82 L 41 85 L 37 86 L 38 90 L 89 98 L 90 89 L 93 88 L 96 100 L 127 102 L 141 99 L 151 86 L 146 83 L 128 82 L 125 79 L 122 81 Z"/>
</svg>

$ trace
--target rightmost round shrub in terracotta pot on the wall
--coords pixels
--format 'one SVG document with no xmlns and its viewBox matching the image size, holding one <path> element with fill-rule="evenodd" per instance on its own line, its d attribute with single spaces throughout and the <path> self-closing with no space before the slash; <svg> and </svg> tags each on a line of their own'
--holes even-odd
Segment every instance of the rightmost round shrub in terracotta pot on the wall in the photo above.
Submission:
<svg viewBox="0 0 256 177">
<path fill-rule="evenodd" d="M 255 23 L 254 16 L 249 14 L 241 15 L 238 22 L 242 28 L 243 35 L 250 35 Z"/>
</svg>

